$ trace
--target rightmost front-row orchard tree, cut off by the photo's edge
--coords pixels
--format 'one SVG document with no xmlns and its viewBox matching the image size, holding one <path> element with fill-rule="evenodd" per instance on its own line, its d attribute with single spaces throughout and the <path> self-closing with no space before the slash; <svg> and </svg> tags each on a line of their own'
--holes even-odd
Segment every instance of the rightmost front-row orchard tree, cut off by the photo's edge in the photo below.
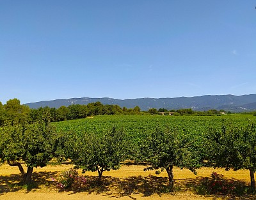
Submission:
<svg viewBox="0 0 256 200">
<path fill-rule="evenodd" d="M 214 167 L 226 170 L 248 169 L 250 171 L 251 190 L 255 192 L 256 171 L 256 124 L 234 125 L 223 122 L 221 127 L 210 129 L 210 160 Z"/>
</svg>

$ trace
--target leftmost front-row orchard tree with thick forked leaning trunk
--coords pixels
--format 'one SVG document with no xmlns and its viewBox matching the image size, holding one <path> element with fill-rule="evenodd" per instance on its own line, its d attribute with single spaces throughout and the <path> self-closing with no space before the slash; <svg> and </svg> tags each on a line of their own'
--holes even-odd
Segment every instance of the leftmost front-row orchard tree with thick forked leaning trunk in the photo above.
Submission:
<svg viewBox="0 0 256 200">
<path fill-rule="evenodd" d="M 33 169 L 44 167 L 54 155 L 54 128 L 48 123 L 5 126 L 0 129 L 0 158 L 17 166 L 24 183 L 31 182 Z M 25 162 L 27 170 L 21 165 Z"/>
</svg>

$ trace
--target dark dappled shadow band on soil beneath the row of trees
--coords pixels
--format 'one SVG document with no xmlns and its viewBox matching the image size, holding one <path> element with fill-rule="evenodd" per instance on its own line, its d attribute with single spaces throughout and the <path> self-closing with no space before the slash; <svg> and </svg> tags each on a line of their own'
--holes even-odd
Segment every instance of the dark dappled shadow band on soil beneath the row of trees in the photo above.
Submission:
<svg viewBox="0 0 256 200">
<path fill-rule="evenodd" d="M 6 192 L 17 192 L 25 190 L 26 192 L 36 191 L 40 189 L 56 189 L 56 182 L 52 182 L 51 176 L 56 177 L 57 172 L 35 172 L 32 175 L 33 182 L 31 185 L 23 185 L 20 183 L 20 175 L 0 176 L 0 196 Z M 174 183 L 174 191 L 171 193 L 168 188 L 168 178 L 158 176 L 129 176 L 127 178 L 116 178 L 112 176 L 102 176 L 102 184 L 98 185 L 97 176 L 85 176 L 86 183 L 79 187 L 71 189 L 56 189 L 58 192 L 68 191 L 70 195 L 77 192 L 88 192 L 88 194 L 100 194 L 108 197 L 131 197 L 132 194 L 143 194 L 144 197 L 157 194 L 173 194 L 179 192 L 191 191 L 193 194 L 199 194 L 212 199 L 243 199 L 252 200 L 255 196 L 246 194 L 248 185 L 240 180 L 232 179 L 236 187 L 240 187 L 240 194 L 230 194 L 228 196 L 200 194 L 199 187 L 202 177 L 176 179 Z M 131 197 L 132 198 L 132 197 Z"/>
</svg>

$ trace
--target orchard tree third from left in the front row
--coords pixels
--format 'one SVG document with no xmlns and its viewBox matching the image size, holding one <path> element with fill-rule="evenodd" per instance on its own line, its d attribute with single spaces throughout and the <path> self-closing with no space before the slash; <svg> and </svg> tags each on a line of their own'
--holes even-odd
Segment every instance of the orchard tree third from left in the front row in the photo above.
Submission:
<svg viewBox="0 0 256 200">
<path fill-rule="evenodd" d="M 186 131 L 176 128 L 156 128 L 151 136 L 141 143 L 142 160 L 151 166 L 145 168 L 166 170 L 169 189 L 173 189 L 173 167 L 188 168 L 196 174 L 202 164 L 200 137 L 189 136 Z M 161 171 L 156 171 L 159 174 Z"/>
</svg>

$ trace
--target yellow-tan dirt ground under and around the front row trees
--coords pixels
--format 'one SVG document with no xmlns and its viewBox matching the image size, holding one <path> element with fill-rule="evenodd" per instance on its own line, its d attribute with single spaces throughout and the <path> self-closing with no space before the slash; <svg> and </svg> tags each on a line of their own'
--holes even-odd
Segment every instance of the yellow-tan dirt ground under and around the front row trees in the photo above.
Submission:
<svg viewBox="0 0 256 200">
<path fill-rule="evenodd" d="M 33 171 L 33 187 L 19 184 L 20 173 L 17 167 L 3 164 L 0 166 L 0 199 L 255 199 L 255 196 L 199 196 L 193 185 L 200 178 L 210 176 L 212 171 L 221 173 L 225 178 L 250 183 L 247 170 L 225 171 L 223 169 L 201 168 L 194 175 L 188 169 L 174 168 L 175 192 L 164 192 L 168 184 L 165 171 L 156 175 L 155 171 L 143 171 L 146 166 L 125 164 L 119 170 L 104 171 L 103 185 L 97 186 L 97 173 L 86 172 L 88 180 L 79 190 L 59 190 L 51 176 L 56 177 L 63 170 L 72 168 L 70 164 L 49 165 Z M 81 171 L 79 171 L 81 173 Z"/>
</svg>

